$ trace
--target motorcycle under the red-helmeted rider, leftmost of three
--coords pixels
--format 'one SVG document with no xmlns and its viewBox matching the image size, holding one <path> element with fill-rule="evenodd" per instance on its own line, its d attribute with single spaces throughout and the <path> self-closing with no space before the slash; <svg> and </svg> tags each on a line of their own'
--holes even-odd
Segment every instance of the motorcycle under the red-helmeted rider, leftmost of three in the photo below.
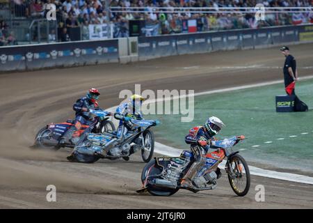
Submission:
<svg viewBox="0 0 313 223">
<path fill-rule="evenodd" d="M 81 129 L 74 132 L 77 136 L 75 139 L 79 139 L 84 132 L 113 132 L 115 131 L 114 124 L 109 121 L 110 112 L 106 112 L 103 109 L 90 109 L 89 113 L 91 116 L 94 116 L 93 123 L 91 125 L 81 125 Z M 70 147 L 74 148 L 72 142 L 67 142 L 65 144 L 60 144 L 60 141 L 65 134 L 65 132 L 74 125 L 74 120 L 67 119 L 63 123 L 50 123 L 44 128 L 40 129 L 35 137 L 35 142 L 33 148 L 54 148 L 58 150 L 61 147 Z M 74 141 L 77 143 L 77 141 Z"/>
</svg>

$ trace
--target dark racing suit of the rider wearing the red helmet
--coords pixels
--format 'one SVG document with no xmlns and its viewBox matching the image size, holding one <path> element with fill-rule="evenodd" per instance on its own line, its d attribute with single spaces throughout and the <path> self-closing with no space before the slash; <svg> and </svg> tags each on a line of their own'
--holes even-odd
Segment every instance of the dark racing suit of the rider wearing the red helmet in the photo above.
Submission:
<svg viewBox="0 0 313 223">
<path fill-rule="evenodd" d="M 81 125 L 91 125 L 92 117 L 89 114 L 89 109 L 95 109 L 99 107 L 97 102 L 91 102 L 89 98 L 83 97 L 79 98 L 73 105 L 73 110 L 75 111 L 75 120 L 74 125 L 70 129 L 65 132 L 63 135 L 63 139 L 61 139 L 61 144 L 68 141 L 74 143 L 73 137 L 78 137 L 78 135 L 74 134 L 74 132 L 81 129 Z"/>
</svg>

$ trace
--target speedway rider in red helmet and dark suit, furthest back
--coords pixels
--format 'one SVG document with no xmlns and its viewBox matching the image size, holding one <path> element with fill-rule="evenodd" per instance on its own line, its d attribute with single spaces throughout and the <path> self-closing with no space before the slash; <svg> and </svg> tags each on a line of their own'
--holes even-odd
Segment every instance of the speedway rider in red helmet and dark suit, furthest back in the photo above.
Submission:
<svg viewBox="0 0 313 223">
<path fill-rule="evenodd" d="M 99 99 L 99 91 L 97 89 L 89 89 L 86 97 L 79 98 L 73 105 L 73 109 L 76 112 L 75 113 L 75 121 L 74 125 L 65 132 L 63 135 L 60 144 L 65 143 L 72 143 L 74 144 L 75 137 L 78 137 L 78 135 L 74 134 L 74 132 L 81 129 L 81 125 L 91 125 L 93 123 L 92 118 L 89 114 L 90 109 L 98 108 L 98 102 Z M 66 141 L 67 140 L 67 141 Z"/>
</svg>

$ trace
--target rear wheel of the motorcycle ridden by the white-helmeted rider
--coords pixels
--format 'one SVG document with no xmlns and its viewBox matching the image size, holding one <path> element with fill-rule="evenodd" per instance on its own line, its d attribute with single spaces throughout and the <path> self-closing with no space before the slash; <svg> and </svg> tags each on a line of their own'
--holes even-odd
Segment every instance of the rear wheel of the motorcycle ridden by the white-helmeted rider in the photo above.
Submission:
<svg viewBox="0 0 313 223">
<path fill-rule="evenodd" d="M 141 182 L 144 183 L 148 175 L 158 175 L 161 174 L 162 169 L 155 166 L 155 160 L 150 160 L 145 167 L 143 167 L 143 172 L 141 173 Z M 168 197 L 172 194 L 175 194 L 179 189 L 170 189 L 170 188 L 154 188 L 147 187 L 147 191 L 154 196 L 164 196 Z"/>
</svg>

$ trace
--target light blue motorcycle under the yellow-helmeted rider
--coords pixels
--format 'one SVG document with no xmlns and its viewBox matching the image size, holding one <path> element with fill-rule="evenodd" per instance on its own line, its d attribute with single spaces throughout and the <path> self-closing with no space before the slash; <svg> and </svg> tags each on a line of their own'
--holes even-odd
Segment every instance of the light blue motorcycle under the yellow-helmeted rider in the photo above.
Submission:
<svg viewBox="0 0 313 223">
<path fill-rule="evenodd" d="M 129 156 L 141 150 L 144 162 L 149 162 L 154 152 L 154 134 L 150 130 L 159 121 L 137 120 L 131 118 L 127 135 L 123 141 L 118 141 L 116 132 L 89 133 L 82 137 L 74 148 L 72 155 L 75 162 L 95 162 L 102 159 L 116 160 Z"/>
</svg>

